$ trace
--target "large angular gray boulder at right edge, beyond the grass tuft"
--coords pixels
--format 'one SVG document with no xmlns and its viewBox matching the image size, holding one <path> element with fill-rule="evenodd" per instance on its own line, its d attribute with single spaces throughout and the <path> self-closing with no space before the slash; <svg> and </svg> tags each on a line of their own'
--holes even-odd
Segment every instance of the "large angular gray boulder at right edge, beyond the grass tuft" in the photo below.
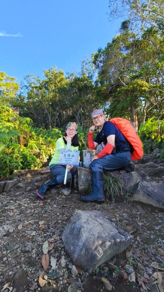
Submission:
<svg viewBox="0 0 164 292">
<path fill-rule="evenodd" d="M 134 192 L 132 201 L 149 204 L 164 209 L 164 181 L 161 183 L 146 182 L 139 183 Z"/>
</svg>

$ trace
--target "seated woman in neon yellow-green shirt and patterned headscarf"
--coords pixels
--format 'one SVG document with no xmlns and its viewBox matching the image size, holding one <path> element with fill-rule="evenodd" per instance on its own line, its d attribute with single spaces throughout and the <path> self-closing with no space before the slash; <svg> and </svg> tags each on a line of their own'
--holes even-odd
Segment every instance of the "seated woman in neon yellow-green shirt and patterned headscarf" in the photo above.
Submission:
<svg viewBox="0 0 164 292">
<path fill-rule="evenodd" d="M 67 182 L 71 179 L 71 176 L 76 173 L 77 166 L 60 165 L 58 164 L 58 161 L 61 152 L 78 150 L 78 146 L 77 124 L 75 122 L 69 122 L 66 126 L 64 136 L 59 138 L 56 142 L 55 152 L 49 164 L 53 179 L 50 180 L 47 185 L 44 185 L 43 187 L 40 187 L 39 190 L 36 190 L 36 193 L 40 199 L 44 200 L 46 192 L 48 192 L 52 187 L 64 183 L 66 167 L 68 169 Z"/>
</svg>

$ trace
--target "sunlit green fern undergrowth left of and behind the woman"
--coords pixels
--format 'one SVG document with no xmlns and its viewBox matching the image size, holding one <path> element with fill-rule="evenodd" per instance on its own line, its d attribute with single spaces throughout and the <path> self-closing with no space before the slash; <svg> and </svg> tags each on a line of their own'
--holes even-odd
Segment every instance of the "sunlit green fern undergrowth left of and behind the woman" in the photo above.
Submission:
<svg viewBox="0 0 164 292">
<path fill-rule="evenodd" d="M 41 168 L 50 160 L 58 138 L 65 130 L 37 128 L 27 117 L 20 117 L 10 107 L 0 106 L 0 179 L 14 170 Z M 78 127 L 79 150 L 86 149 L 87 135 Z"/>
</svg>

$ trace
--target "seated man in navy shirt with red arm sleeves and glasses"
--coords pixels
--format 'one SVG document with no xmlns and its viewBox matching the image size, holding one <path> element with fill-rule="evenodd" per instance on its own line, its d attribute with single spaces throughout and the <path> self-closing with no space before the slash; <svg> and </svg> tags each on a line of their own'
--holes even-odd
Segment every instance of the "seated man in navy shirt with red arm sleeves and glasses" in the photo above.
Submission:
<svg viewBox="0 0 164 292">
<path fill-rule="evenodd" d="M 95 149 L 104 142 L 104 149 L 93 156 L 91 162 L 93 191 L 81 196 L 82 201 L 105 201 L 103 170 L 114 170 L 128 166 L 131 160 L 131 147 L 116 125 L 107 122 L 101 109 L 95 109 L 91 115 L 93 126 L 88 133 L 89 149 Z M 101 131 L 93 141 L 95 127 Z"/>
</svg>

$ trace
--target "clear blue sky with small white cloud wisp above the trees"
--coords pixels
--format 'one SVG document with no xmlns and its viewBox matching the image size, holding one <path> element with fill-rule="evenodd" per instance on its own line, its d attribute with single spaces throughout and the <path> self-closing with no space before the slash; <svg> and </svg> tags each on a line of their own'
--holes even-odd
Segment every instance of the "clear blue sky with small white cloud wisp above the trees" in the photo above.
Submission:
<svg viewBox="0 0 164 292">
<path fill-rule="evenodd" d="M 80 71 L 81 62 L 116 35 L 108 0 L 1 0 L 0 71 L 17 82 L 57 66 Z"/>
</svg>

